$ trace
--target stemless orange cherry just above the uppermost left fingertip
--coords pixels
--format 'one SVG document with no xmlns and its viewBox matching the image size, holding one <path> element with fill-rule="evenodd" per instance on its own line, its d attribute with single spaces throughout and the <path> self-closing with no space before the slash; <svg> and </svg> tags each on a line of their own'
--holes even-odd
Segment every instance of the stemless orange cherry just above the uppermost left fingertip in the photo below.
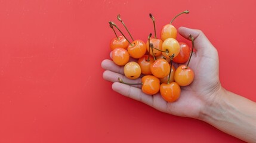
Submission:
<svg viewBox="0 0 256 143">
<path fill-rule="evenodd" d="M 124 66 L 129 61 L 129 53 L 124 48 L 115 48 L 112 51 L 112 60 L 118 66 Z"/>
</svg>

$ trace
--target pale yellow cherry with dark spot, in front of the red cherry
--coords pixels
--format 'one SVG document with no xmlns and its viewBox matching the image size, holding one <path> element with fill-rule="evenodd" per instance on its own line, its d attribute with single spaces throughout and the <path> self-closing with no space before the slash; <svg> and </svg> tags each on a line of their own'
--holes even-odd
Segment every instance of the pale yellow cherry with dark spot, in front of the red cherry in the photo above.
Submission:
<svg viewBox="0 0 256 143">
<path fill-rule="evenodd" d="M 162 51 L 166 58 L 170 58 L 172 54 L 176 57 L 180 53 L 180 43 L 174 38 L 167 38 L 162 44 Z"/>
</svg>

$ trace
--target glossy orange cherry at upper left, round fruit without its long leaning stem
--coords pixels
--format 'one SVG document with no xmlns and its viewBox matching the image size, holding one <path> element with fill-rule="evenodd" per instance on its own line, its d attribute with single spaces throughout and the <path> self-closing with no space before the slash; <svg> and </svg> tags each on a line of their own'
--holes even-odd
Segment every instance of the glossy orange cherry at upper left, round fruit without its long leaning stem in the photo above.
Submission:
<svg viewBox="0 0 256 143">
<path fill-rule="evenodd" d="M 127 48 L 129 55 L 132 58 L 141 58 L 146 53 L 146 43 L 141 40 L 135 40 Z"/>
</svg>

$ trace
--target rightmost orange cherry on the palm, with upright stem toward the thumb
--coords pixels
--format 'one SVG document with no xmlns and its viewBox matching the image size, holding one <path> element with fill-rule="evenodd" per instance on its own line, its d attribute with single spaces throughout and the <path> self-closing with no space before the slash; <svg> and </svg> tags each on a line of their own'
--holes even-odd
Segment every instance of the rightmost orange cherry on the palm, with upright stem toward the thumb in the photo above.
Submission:
<svg viewBox="0 0 256 143">
<path fill-rule="evenodd" d="M 194 38 L 192 35 L 189 35 L 189 38 L 192 41 L 192 51 L 189 57 L 189 62 L 190 62 L 193 54 L 193 49 L 194 49 Z M 194 71 L 189 67 L 189 62 L 187 63 L 187 66 L 186 65 L 179 66 L 174 73 L 174 80 L 180 86 L 187 86 L 193 82 L 195 75 L 194 75 Z"/>
</svg>

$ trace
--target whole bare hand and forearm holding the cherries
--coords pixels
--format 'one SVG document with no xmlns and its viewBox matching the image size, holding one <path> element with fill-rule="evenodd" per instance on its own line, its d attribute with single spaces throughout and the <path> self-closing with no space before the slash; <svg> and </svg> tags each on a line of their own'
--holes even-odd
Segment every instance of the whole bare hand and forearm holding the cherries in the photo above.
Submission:
<svg viewBox="0 0 256 143">
<path fill-rule="evenodd" d="M 114 91 L 144 102 L 156 110 L 202 120 L 243 141 L 256 142 L 256 103 L 221 86 L 217 49 L 201 30 L 180 27 L 178 32 L 184 38 L 189 39 L 189 35 L 192 35 L 195 39 L 196 52 L 189 66 L 196 74 L 189 86 L 181 87 L 177 101 L 166 102 L 159 93 L 146 95 L 141 91 L 141 85 L 119 83 L 118 77 L 132 83 L 140 82 L 140 78 L 127 79 L 123 67 L 111 60 L 103 60 L 101 63 L 105 70 L 103 78 L 113 82 Z"/>
</svg>

